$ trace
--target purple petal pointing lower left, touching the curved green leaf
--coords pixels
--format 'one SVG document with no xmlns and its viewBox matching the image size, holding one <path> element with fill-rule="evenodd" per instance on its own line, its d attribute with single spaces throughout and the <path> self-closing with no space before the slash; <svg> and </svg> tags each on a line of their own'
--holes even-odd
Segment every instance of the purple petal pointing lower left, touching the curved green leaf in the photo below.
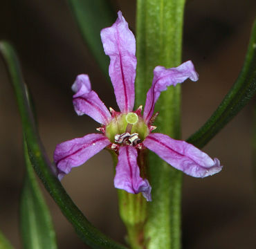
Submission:
<svg viewBox="0 0 256 249">
<path fill-rule="evenodd" d="M 82 165 L 110 143 L 105 136 L 97 133 L 62 142 L 56 146 L 54 162 L 62 174 L 68 174 L 73 167 Z"/>
</svg>

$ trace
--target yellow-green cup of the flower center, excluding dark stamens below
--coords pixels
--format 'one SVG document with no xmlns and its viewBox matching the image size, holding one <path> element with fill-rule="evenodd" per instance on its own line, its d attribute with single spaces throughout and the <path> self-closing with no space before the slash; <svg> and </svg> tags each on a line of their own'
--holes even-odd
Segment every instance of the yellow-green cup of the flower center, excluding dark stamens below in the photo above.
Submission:
<svg viewBox="0 0 256 249">
<path fill-rule="evenodd" d="M 128 121 L 128 122 L 127 122 Z M 147 124 L 145 124 L 143 118 L 136 113 L 127 113 L 116 115 L 112 118 L 111 122 L 107 124 L 105 129 L 105 135 L 111 142 L 115 142 L 115 136 L 127 132 L 127 124 L 132 125 L 131 134 L 138 133 L 138 137 L 143 141 L 149 134 Z"/>
</svg>

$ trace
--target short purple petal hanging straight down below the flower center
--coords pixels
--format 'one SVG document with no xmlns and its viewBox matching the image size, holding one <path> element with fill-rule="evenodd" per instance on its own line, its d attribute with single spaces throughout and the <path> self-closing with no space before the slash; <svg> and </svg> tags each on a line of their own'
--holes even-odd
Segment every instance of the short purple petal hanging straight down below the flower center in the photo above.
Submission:
<svg viewBox="0 0 256 249">
<path fill-rule="evenodd" d="M 119 149 L 118 165 L 113 183 L 116 188 L 125 190 L 131 194 L 142 192 L 147 201 L 151 199 L 151 186 L 147 179 L 140 177 L 140 169 L 137 164 L 138 153 L 132 146 L 124 146 Z"/>
</svg>

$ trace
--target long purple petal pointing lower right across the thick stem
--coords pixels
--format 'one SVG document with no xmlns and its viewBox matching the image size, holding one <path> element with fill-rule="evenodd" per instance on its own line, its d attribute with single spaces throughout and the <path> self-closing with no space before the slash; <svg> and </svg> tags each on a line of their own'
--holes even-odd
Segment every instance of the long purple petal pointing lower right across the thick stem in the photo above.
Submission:
<svg viewBox="0 0 256 249">
<path fill-rule="evenodd" d="M 210 158 L 200 149 L 188 142 L 174 140 L 161 133 L 152 133 L 143 141 L 148 149 L 154 151 L 163 160 L 194 177 L 211 176 L 221 171 L 217 158 Z"/>
</svg>

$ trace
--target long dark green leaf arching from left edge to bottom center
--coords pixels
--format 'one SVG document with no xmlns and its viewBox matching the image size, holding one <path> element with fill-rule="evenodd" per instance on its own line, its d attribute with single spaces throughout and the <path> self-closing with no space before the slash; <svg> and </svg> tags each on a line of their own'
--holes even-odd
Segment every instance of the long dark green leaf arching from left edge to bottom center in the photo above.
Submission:
<svg viewBox="0 0 256 249">
<path fill-rule="evenodd" d="M 55 176 L 55 166 L 46 156 L 42 142 L 39 139 L 35 118 L 29 105 L 28 91 L 26 91 L 26 85 L 15 50 L 8 42 L 0 42 L 0 52 L 6 62 L 10 80 L 15 89 L 26 145 L 28 147 L 28 156 L 44 187 L 46 187 L 46 190 L 51 194 L 57 205 L 59 205 L 60 210 L 62 210 L 68 221 L 71 222 L 84 243 L 91 246 L 91 248 L 125 248 L 96 229 L 76 207 L 68 194 L 66 194 L 62 184 Z"/>
</svg>

